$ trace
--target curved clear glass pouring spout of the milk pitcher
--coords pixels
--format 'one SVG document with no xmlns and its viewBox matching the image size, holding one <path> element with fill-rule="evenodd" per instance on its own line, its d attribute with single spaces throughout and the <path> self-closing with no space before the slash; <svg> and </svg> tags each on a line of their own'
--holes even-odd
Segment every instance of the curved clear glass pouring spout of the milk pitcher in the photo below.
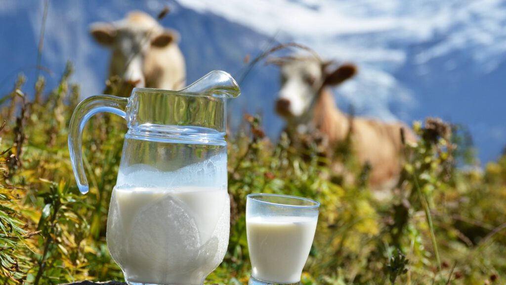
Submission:
<svg viewBox="0 0 506 285">
<path fill-rule="evenodd" d="M 213 70 L 180 92 L 199 93 L 204 96 L 235 98 L 241 94 L 239 85 L 230 74 Z"/>
</svg>

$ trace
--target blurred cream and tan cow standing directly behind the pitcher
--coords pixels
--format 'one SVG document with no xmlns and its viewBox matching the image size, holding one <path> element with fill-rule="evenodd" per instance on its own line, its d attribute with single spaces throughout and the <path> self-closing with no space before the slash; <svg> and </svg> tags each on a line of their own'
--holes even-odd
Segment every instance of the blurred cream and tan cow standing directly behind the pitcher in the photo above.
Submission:
<svg viewBox="0 0 506 285">
<path fill-rule="evenodd" d="M 164 28 L 148 14 L 133 11 L 119 21 L 97 22 L 90 33 L 112 50 L 109 78 L 118 76 L 137 87 L 179 90 L 185 86 L 178 32 Z"/>
</svg>

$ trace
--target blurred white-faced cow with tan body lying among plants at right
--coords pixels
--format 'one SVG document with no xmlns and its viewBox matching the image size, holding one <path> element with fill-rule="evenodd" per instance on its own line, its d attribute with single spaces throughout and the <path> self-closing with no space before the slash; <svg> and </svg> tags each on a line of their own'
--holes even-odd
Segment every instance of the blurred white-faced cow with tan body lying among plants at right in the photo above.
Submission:
<svg viewBox="0 0 506 285">
<path fill-rule="evenodd" d="M 371 186 L 382 188 L 396 182 L 402 169 L 400 128 L 405 128 L 408 141 L 416 138 L 401 123 L 387 124 L 361 117 L 351 119 L 337 108 L 328 88 L 352 78 L 357 72 L 354 65 L 343 64 L 328 70 L 330 64 L 316 57 L 271 61 L 281 67 L 276 112 L 286 120 L 290 137 L 317 131 L 327 138 L 329 150 L 334 150 L 351 130 L 352 148 L 360 163 L 369 162 L 372 167 Z"/>
</svg>

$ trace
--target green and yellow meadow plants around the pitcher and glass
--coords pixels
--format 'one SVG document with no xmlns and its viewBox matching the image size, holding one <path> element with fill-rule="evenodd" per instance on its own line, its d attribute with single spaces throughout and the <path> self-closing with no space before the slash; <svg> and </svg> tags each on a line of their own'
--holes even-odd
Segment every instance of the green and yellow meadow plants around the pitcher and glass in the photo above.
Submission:
<svg viewBox="0 0 506 285">
<path fill-rule="evenodd" d="M 73 181 L 67 126 L 79 99 L 69 64 L 55 90 L 39 78 L 34 94 L 20 77 L 3 98 L 0 130 L 0 282 L 64 283 L 122 279 L 106 242 L 108 203 L 125 133 L 122 119 L 96 116 L 83 137 L 90 192 Z M 108 83 L 110 93 L 130 87 Z M 118 87 L 119 86 L 119 87 Z M 29 98 L 40 99 L 39 103 Z M 229 134 L 231 236 L 221 266 L 206 282 L 245 284 L 250 265 L 245 197 L 283 193 L 321 202 L 303 284 L 483 284 L 506 278 L 506 156 L 484 169 L 457 167 L 459 139 L 447 124 L 416 122 L 420 137 L 406 144 L 406 162 L 389 192 L 368 188 L 367 165 L 351 136 L 331 153 L 321 138 L 294 148 L 286 134 L 274 143 L 259 117 Z M 464 146 L 466 148 L 466 146 Z M 346 173 L 333 171 L 340 161 Z M 466 161 L 470 161 L 466 158 Z M 385 196 L 385 193 L 390 193 Z M 379 195 L 382 194 L 382 195 Z M 381 198 L 381 199 L 380 199 Z"/>
</svg>

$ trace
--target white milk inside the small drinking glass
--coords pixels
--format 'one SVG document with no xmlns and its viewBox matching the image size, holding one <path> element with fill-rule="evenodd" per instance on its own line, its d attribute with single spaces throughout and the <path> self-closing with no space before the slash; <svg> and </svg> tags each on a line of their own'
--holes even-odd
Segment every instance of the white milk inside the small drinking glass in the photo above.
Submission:
<svg viewBox="0 0 506 285">
<path fill-rule="evenodd" d="M 316 218 L 307 217 L 246 219 L 251 276 L 275 283 L 299 282 L 316 223 Z"/>
</svg>

